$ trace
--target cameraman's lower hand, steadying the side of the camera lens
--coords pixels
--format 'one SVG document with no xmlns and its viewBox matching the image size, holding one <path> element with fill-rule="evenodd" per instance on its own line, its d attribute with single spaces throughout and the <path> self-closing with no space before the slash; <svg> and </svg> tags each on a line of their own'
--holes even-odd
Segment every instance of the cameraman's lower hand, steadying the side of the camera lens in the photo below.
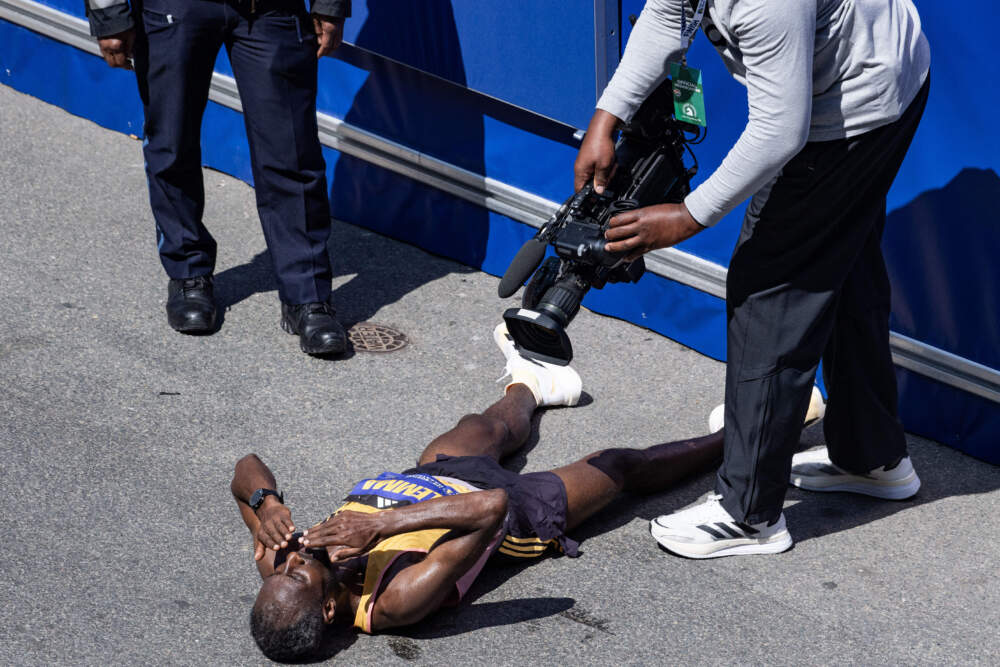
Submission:
<svg viewBox="0 0 1000 667">
<path fill-rule="evenodd" d="M 668 248 L 705 229 L 691 217 L 684 204 L 659 204 L 619 213 L 604 233 L 608 252 L 627 252 L 626 261 L 639 259 L 650 250 Z"/>
</svg>

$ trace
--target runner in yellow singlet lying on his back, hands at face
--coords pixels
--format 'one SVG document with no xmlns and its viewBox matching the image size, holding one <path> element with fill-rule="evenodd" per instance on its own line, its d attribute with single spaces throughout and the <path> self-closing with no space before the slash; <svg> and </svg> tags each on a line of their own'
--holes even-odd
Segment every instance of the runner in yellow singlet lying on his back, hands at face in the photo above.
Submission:
<svg viewBox="0 0 1000 667">
<path fill-rule="evenodd" d="M 722 455 L 722 434 L 606 449 L 551 472 L 525 475 L 499 460 L 520 448 L 539 407 L 575 405 L 572 368 L 521 357 L 504 325 L 494 339 L 511 382 L 482 414 L 431 442 L 415 468 L 358 482 L 327 520 L 295 532 L 271 471 L 240 459 L 232 492 L 253 534 L 263 584 L 251 631 L 275 660 L 315 657 L 333 626 L 362 632 L 416 623 L 457 603 L 494 555 L 577 556 L 566 533 L 619 492 L 668 488 Z"/>
</svg>

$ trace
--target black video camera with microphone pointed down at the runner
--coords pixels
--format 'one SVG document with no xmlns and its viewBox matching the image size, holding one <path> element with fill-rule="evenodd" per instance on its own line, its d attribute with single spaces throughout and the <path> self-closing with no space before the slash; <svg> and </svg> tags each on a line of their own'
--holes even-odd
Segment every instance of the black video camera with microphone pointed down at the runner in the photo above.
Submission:
<svg viewBox="0 0 1000 667">
<path fill-rule="evenodd" d="M 565 366 L 573 359 L 566 327 L 591 287 L 634 283 L 646 270 L 643 258 L 624 261 L 624 253 L 604 249 L 604 232 L 615 215 L 643 206 L 680 202 L 690 191 L 697 160 L 684 166 L 686 144 L 699 128 L 674 120 L 670 79 L 643 102 L 615 144 L 617 168 L 603 194 L 588 183 L 559 207 L 527 241 L 500 279 L 501 298 L 514 294 L 531 276 L 521 308 L 503 314 L 521 354 Z M 692 158 L 694 154 L 692 153 Z M 548 259 L 552 246 L 555 256 Z M 537 270 L 536 270 L 537 269 Z M 532 275 L 534 274 L 534 275 Z"/>
</svg>

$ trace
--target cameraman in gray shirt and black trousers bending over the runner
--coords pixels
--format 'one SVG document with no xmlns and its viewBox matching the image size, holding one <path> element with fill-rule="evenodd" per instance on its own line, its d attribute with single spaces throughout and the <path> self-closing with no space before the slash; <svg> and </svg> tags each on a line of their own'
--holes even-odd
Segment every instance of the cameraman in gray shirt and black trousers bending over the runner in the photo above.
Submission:
<svg viewBox="0 0 1000 667">
<path fill-rule="evenodd" d="M 746 129 L 683 203 L 615 217 L 607 249 L 635 258 L 672 246 L 752 200 L 727 279 L 715 493 L 651 532 L 690 557 L 777 553 L 792 545 L 781 511 L 790 473 L 803 488 L 881 498 L 920 486 L 897 418 L 879 243 L 927 100 L 930 48 L 910 0 L 649 0 L 598 101 L 577 188 L 593 179 L 603 190 L 616 129 L 684 60 L 692 21 L 746 86 Z M 821 359 L 828 450 L 793 468 Z"/>
</svg>

